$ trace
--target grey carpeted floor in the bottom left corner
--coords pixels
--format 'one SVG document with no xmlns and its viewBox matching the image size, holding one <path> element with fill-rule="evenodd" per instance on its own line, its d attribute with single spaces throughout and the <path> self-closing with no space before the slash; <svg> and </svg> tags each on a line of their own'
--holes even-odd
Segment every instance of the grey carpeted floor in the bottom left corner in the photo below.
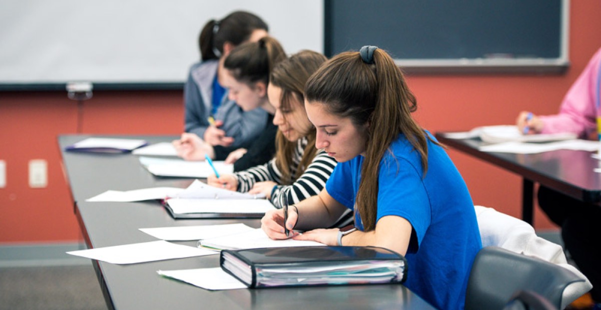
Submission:
<svg viewBox="0 0 601 310">
<path fill-rule="evenodd" d="M 0 309 L 106 310 L 90 264 L 0 268 Z"/>
</svg>

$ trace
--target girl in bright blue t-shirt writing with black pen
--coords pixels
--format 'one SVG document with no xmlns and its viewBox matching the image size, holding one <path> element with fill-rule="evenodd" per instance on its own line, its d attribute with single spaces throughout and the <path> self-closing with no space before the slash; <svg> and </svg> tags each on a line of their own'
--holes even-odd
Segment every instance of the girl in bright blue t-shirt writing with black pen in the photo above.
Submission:
<svg viewBox="0 0 601 310">
<path fill-rule="evenodd" d="M 316 147 L 338 165 L 319 195 L 288 208 L 286 227 L 306 231 L 290 236 L 396 251 L 407 258 L 407 288 L 436 308 L 463 309 L 481 249 L 474 205 L 447 153 L 411 117 L 416 100 L 391 57 L 373 46 L 335 56 L 305 85 L 305 108 Z M 347 208 L 355 231 L 323 229 Z M 287 238 L 283 210 L 261 224 Z"/>
</svg>

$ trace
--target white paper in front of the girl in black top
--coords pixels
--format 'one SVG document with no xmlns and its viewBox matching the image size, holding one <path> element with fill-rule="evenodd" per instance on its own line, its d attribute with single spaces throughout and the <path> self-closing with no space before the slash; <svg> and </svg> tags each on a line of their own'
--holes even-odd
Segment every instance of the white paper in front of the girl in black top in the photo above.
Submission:
<svg viewBox="0 0 601 310">
<path fill-rule="evenodd" d="M 187 177 L 187 178 L 207 178 L 215 174 L 209 163 L 204 161 L 186 161 L 181 159 L 163 159 L 140 157 L 140 163 L 148 171 L 158 177 Z M 232 174 L 234 165 L 223 161 L 214 160 L 213 165 L 219 174 Z"/>
</svg>

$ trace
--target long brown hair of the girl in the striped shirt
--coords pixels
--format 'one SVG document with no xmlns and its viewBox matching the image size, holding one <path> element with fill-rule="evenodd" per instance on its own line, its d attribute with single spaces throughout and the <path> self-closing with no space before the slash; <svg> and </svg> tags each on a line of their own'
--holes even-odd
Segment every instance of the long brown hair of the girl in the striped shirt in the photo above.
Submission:
<svg viewBox="0 0 601 310">
<path fill-rule="evenodd" d="M 320 53 L 313 52 L 312 50 L 301 50 L 301 52 L 290 56 L 290 58 L 279 62 L 279 64 L 273 67 L 269 82 L 282 90 L 280 110 L 284 119 L 285 112 L 291 111 L 291 99 L 301 103 L 301 109 L 304 109 L 305 83 L 311 74 L 317 71 L 320 65 L 326 62 L 326 60 L 328 58 Z M 317 148 L 315 148 L 315 129 L 312 127 L 309 132 L 303 133 L 303 135 L 307 137 L 307 147 L 305 147 L 301 163 L 299 163 L 296 172 L 294 175 L 291 175 L 290 164 L 297 142 L 288 141 L 284 134 L 278 130 L 275 141 L 277 150 L 275 163 L 282 174 L 282 184 L 293 183 L 294 180 L 305 172 L 305 169 L 307 169 L 307 166 L 317 153 Z"/>
</svg>

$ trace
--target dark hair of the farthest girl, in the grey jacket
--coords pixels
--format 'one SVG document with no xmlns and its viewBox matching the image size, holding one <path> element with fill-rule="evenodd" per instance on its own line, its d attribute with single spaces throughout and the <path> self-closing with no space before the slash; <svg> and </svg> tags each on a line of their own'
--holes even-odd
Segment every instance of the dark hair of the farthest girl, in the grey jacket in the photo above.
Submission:
<svg viewBox="0 0 601 310">
<path fill-rule="evenodd" d="M 261 17 L 246 11 L 235 11 L 219 21 L 209 20 L 198 36 L 201 59 L 218 59 L 224 52 L 225 42 L 238 46 L 248 41 L 252 32 L 257 29 L 269 31 L 269 26 Z"/>
</svg>

